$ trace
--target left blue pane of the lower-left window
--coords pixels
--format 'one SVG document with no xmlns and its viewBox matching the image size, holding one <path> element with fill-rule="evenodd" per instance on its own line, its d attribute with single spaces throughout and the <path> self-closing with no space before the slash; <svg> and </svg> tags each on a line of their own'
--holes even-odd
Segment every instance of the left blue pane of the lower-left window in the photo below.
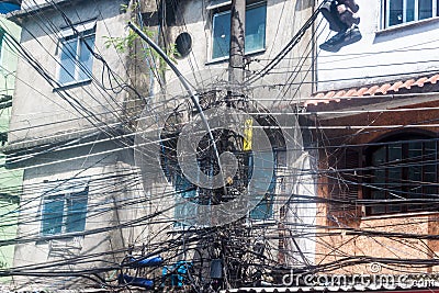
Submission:
<svg viewBox="0 0 439 293">
<path fill-rule="evenodd" d="M 63 227 L 64 196 L 55 195 L 45 199 L 43 206 L 43 235 L 60 234 Z"/>
</svg>

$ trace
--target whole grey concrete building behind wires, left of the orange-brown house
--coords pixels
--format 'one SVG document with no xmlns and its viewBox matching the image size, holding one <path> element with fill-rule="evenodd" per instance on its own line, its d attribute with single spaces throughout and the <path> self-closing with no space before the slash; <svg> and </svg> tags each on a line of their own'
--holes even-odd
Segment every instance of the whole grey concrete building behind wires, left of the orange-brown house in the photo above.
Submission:
<svg viewBox="0 0 439 293">
<path fill-rule="evenodd" d="M 272 128 L 282 126 L 270 124 L 274 113 L 289 109 L 286 113 L 293 114 L 296 110 L 291 101 L 301 101 L 312 91 L 315 40 L 308 20 L 314 9 L 309 1 L 302 0 L 247 2 L 246 77 L 259 76 L 247 98 L 255 103 L 252 111 L 266 113 L 263 120 Z M 148 184 L 142 180 L 144 173 L 139 173 L 133 154 L 136 124 L 159 119 L 173 126 L 173 116 L 166 116 L 166 111 L 178 109 L 188 97 L 181 84 L 173 81 L 173 72 L 148 52 L 126 29 L 126 23 L 135 19 L 137 25 L 155 33 L 155 41 L 175 58 L 178 69 L 207 101 L 210 91 L 226 89 L 221 84 L 227 80 L 229 10 L 228 1 L 216 0 L 30 0 L 22 2 L 19 12 L 9 14 L 11 21 L 23 27 L 7 147 L 10 168 L 24 169 L 16 237 L 20 241 L 14 250 L 14 270 L 10 272 L 19 289 L 87 288 L 97 283 L 105 286 L 116 282 L 117 268 L 125 263 L 126 255 L 158 251 L 168 259 L 168 269 L 178 268 L 178 263 L 196 263 L 196 258 L 207 253 L 209 262 L 200 269 L 206 277 L 200 280 L 209 284 L 217 279 L 218 274 L 212 272 L 212 268 L 218 268 L 215 263 L 221 262 L 219 255 L 213 253 L 216 247 L 200 248 L 209 245 L 211 238 L 194 241 L 188 255 L 181 250 L 184 241 L 175 246 L 185 239 L 184 235 L 196 238 L 196 233 L 185 232 L 190 210 L 179 209 L 176 203 L 176 194 L 182 199 L 192 194 L 187 182 L 167 172 L 165 169 L 172 169 L 172 165 L 162 161 L 157 166 L 168 177 L 167 182 Z M 292 45 L 294 40 L 299 45 Z M 279 61 L 270 67 L 274 57 Z M 218 97 L 214 95 L 214 103 L 219 101 L 215 100 Z M 293 115 L 285 121 L 290 125 Z M 160 125 L 153 126 L 147 131 L 159 129 L 157 127 Z M 291 137 L 296 138 L 295 135 Z M 262 194 L 258 209 L 246 215 L 241 223 L 246 228 L 240 233 L 255 227 L 248 247 L 262 249 L 260 260 L 275 251 L 270 252 L 275 263 L 311 266 L 315 258 L 315 230 L 311 228 L 315 224 L 315 203 L 296 201 L 285 209 L 275 196 L 285 187 L 297 194 L 315 195 L 309 172 L 301 172 L 296 184 L 291 176 L 292 170 L 312 169 L 313 155 L 301 142 L 295 147 L 295 165 L 281 165 L 279 149 L 285 143 L 275 140 L 278 136 L 277 132 L 269 134 L 269 153 L 279 151 L 271 157 L 273 164 L 261 165 L 263 168 L 255 171 L 267 181 L 268 192 Z M 247 143 L 251 142 L 251 135 L 247 134 Z M 251 147 L 247 150 L 255 151 Z M 158 150 L 153 155 L 165 160 L 169 154 Z M 146 167 L 149 170 L 156 166 Z M 274 171 L 264 173 L 266 167 Z M 244 177 L 250 176 L 247 172 Z M 233 181 L 236 179 L 232 178 Z M 169 203 L 161 201 L 160 207 L 171 209 L 154 210 L 149 200 L 161 199 L 169 190 L 173 195 Z M 293 234 L 306 237 L 293 239 Z M 227 240 L 237 239 L 235 236 L 232 233 Z M 162 251 L 165 244 L 173 250 Z M 193 252 L 201 250 L 199 255 Z M 240 266 L 236 261 L 229 264 Z M 145 273 L 151 275 L 161 280 L 162 271 Z M 234 278 L 239 280 L 239 275 Z M 122 283 L 128 282 L 122 279 Z M 259 282 L 263 279 L 257 278 Z"/>
</svg>

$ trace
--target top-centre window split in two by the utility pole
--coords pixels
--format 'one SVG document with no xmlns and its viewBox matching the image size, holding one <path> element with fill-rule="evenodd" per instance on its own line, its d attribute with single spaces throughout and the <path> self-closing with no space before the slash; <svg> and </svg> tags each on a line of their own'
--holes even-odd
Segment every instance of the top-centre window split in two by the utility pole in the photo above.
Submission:
<svg viewBox="0 0 439 293">
<path fill-rule="evenodd" d="M 266 47 L 267 3 L 247 5 L 246 10 L 246 54 Z M 230 11 L 213 15 L 212 59 L 225 58 L 230 47 Z"/>
</svg>

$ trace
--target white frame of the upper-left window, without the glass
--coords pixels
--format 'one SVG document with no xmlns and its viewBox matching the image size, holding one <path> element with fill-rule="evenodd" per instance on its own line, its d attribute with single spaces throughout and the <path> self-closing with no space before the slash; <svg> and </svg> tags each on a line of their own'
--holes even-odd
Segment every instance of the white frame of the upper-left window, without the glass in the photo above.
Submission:
<svg viewBox="0 0 439 293">
<path fill-rule="evenodd" d="M 74 27 L 68 27 L 65 29 L 63 31 L 60 31 L 60 38 L 59 38 L 59 43 L 60 43 L 60 49 L 58 52 L 58 72 L 57 72 L 57 81 L 60 84 L 60 87 L 66 87 L 66 86 L 70 86 L 70 84 L 77 84 L 77 83 L 81 83 L 85 81 L 90 81 L 91 77 L 89 78 L 81 78 L 80 77 L 80 68 L 82 66 L 81 61 L 80 61 L 80 56 L 81 56 L 81 40 L 88 38 L 88 37 L 93 37 L 93 44 L 95 42 L 95 29 L 97 29 L 97 22 L 95 21 L 91 21 L 91 22 L 87 22 L 87 23 L 82 23 L 82 24 L 78 24 L 75 25 Z M 65 49 L 65 44 L 67 42 L 70 42 L 72 40 L 76 40 L 76 52 L 75 52 L 75 59 L 72 59 L 74 64 L 75 64 L 75 72 L 72 75 L 74 80 L 68 81 L 68 82 L 63 82 L 60 80 L 60 75 L 63 71 L 63 60 L 61 60 L 61 56 Z M 86 48 L 87 49 L 87 48 Z M 90 54 L 92 54 L 92 52 L 90 52 Z M 71 53 L 71 55 L 74 55 Z M 92 67 L 93 67 L 93 63 L 91 63 L 90 68 L 86 68 L 87 70 L 90 71 L 90 74 L 92 72 Z"/>
</svg>

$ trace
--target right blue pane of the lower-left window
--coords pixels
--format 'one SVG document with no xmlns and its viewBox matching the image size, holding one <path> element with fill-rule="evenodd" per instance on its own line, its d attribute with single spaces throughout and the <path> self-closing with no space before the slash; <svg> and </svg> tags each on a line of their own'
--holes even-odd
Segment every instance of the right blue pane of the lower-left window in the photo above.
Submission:
<svg viewBox="0 0 439 293">
<path fill-rule="evenodd" d="M 66 233 L 86 228 L 88 190 L 71 194 L 67 199 Z"/>
</svg>

